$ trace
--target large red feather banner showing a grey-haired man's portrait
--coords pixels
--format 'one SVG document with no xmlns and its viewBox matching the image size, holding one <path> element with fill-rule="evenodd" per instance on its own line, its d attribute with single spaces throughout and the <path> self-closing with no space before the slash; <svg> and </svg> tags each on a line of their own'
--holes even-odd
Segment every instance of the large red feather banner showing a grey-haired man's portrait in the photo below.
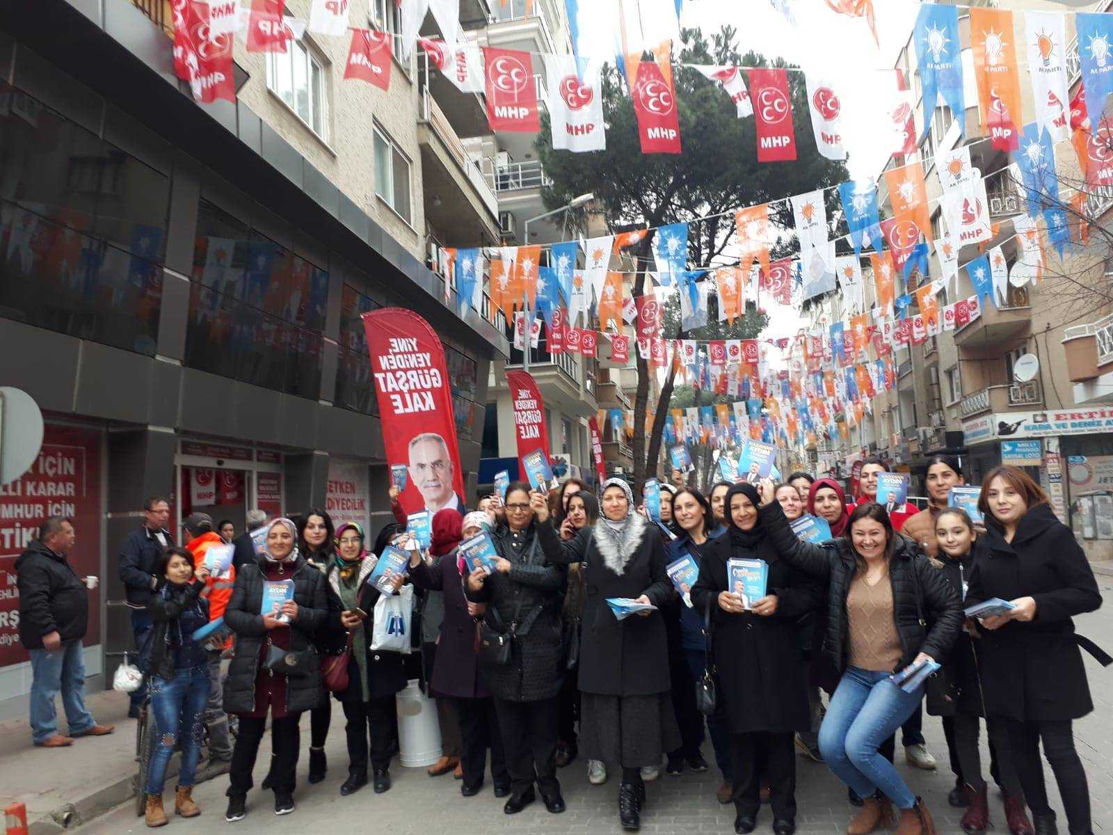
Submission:
<svg viewBox="0 0 1113 835">
<path fill-rule="evenodd" d="M 386 463 L 408 468 L 400 501 L 406 513 L 464 508 L 452 390 L 444 346 L 416 313 L 383 307 L 363 314 Z"/>
</svg>

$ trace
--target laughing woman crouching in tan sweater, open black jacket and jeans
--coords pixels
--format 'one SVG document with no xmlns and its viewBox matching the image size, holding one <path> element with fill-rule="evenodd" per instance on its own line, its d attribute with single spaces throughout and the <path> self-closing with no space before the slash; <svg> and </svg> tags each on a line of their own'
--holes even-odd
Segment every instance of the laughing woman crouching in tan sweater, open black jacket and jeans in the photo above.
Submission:
<svg viewBox="0 0 1113 835">
<path fill-rule="evenodd" d="M 759 515 L 777 552 L 827 584 L 824 650 L 841 678 L 819 728 L 819 749 L 836 776 L 864 798 L 847 833 L 867 835 L 888 823 L 895 803 L 899 835 L 932 835 L 935 825 L 924 802 L 878 747 L 924 695 L 923 685 L 908 692 L 890 676 L 946 656 L 962 625 L 958 596 L 910 540 L 897 536 L 885 508 L 873 502 L 855 508 L 844 537 L 811 544 L 792 533 L 772 483 L 762 481 L 760 492 Z M 875 796 L 878 789 L 881 798 Z"/>
</svg>

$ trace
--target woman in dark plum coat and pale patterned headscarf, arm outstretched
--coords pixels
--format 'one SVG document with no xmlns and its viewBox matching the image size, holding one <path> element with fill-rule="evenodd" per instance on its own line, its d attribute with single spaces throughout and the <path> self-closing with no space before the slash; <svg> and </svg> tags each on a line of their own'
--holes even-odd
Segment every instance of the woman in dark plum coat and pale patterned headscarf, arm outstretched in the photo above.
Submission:
<svg viewBox="0 0 1113 835">
<path fill-rule="evenodd" d="M 437 511 L 437 515 L 446 511 Z M 449 511 L 451 512 L 451 511 Z M 464 773 L 460 794 L 472 797 L 483 787 L 483 772 L 486 767 L 486 749 L 491 748 L 491 777 L 494 780 L 494 796 L 510 794 L 510 773 L 499 733 L 491 691 L 480 675 L 479 657 L 475 652 L 477 619 L 484 611 L 483 603 L 471 603 L 464 597 L 463 577 L 457 561 L 457 546 L 461 539 L 474 537 L 490 524 L 482 511 L 469 513 L 463 522 L 456 513 L 455 542 L 437 561 L 422 559 L 417 551 L 410 558 L 410 578 L 418 589 L 440 591 L 444 595 L 444 618 L 436 642 L 433 660 L 431 689 L 437 698 L 452 700 L 460 720 L 462 737 L 460 764 Z M 474 615 L 473 615 L 474 612 Z"/>
</svg>

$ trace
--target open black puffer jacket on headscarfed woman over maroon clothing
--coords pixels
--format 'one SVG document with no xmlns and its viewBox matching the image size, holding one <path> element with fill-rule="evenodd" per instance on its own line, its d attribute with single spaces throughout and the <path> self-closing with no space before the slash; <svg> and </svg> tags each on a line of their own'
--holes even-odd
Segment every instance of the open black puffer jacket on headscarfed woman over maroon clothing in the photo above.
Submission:
<svg viewBox="0 0 1113 835">
<path fill-rule="evenodd" d="M 341 613 L 329 608 L 325 576 L 301 557 L 294 563 L 290 579 L 294 580 L 297 618 L 289 626 L 289 650 L 311 650 L 312 658 L 307 675 L 290 676 L 286 682 L 286 709 L 294 714 L 316 707 L 321 701 L 321 656 L 314 637 L 326 627 L 339 629 Z M 264 582 L 258 562 L 245 566 L 236 572 L 232 600 L 224 610 L 224 622 L 236 633 L 236 650 L 224 682 L 224 709 L 228 714 L 249 714 L 255 708 L 255 677 L 263 641 L 267 637 L 263 616 L 259 615 Z"/>
</svg>

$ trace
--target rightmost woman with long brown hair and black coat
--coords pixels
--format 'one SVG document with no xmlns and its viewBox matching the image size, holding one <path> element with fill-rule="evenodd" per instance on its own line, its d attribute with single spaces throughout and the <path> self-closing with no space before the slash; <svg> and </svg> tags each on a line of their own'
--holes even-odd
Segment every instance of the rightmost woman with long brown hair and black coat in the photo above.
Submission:
<svg viewBox="0 0 1113 835">
<path fill-rule="evenodd" d="M 1005 718 L 1016 773 L 1038 835 L 1055 832 L 1040 743 L 1055 774 L 1072 833 L 1089 833 L 1090 790 L 1071 723 L 1094 709 L 1078 647 L 1110 658 L 1075 635 L 1072 617 L 1094 611 L 1102 596 L 1086 554 L 1055 518 L 1047 494 L 1023 470 L 998 466 L 982 487 L 985 517 L 966 603 L 1011 601 L 1005 615 L 982 619 L 982 690 L 991 716 Z"/>
</svg>

